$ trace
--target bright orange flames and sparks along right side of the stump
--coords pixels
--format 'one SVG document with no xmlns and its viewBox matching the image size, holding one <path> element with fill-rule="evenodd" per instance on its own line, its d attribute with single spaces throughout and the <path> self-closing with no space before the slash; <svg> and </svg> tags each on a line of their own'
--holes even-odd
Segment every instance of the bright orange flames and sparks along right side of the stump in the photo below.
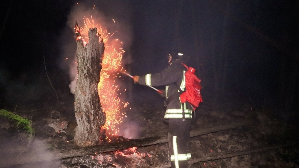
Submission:
<svg viewBox="0 0 299 168">
<path fill-rule="evenodd" d="M 119 132 L 118 125 L 122 122 L 123 116 L 125 113 L 121 113 L 120 109 L 126 108 L 128 102 L 122 102 L 118 96 L 119 88 L 116 84 L 119 76 L 119 72 L 125 72 L 121 65 L 121 59 L 123 53 L 121 46 L 122 42 L 118 39 L 113 41 L 108 41 L 110 33 L 107 33 L 107 29 L 102 29 L 101 26 L 98 26 L 94 23 L 94 20 L 89 18 L 84 19 L 84 27 L 80 28 L 79 31 L 82 36 L 85 36 L 86 41 L 88 40 L 88 31 L 90 28 L 97 28 L 97 33 L 100 36 L 100 41 L 103 40 L 105 43 L 105 52 L 102 58 L 102 70 L 100 72 L 100 81 L 98 83 L 99 98 L 103 108 L 103 111 L 106 113 L 106 123 L 101 128 L 101 130 L 106 130 L 106 138 L 110 142 L 111 136 L 116 135 Z M 120 44 L 121 43 L 121 44 Z M 121 93 L 120 93 L 121 94 Z M 108 135 L 107 135 L 108 133 Z"/>
</svg>

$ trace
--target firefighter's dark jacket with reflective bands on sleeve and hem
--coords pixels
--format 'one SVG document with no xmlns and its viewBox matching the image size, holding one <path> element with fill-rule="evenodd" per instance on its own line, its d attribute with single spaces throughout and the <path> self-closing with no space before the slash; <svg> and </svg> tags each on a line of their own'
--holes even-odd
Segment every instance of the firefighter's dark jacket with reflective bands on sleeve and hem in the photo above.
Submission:
<svg viewBox="0 0 299 168">
<path fill-rule="evenodd" d="M 186 68 L 181 64 L 181 60 L 174 60 L 171 65 L 162 70 L 161 73 L 146 74 L 139 77 L 138 83 L 147 86 L 165 86 L 165 98 L 169 98 L 176 92 L 185 89 L 184 74 Z M 181 104 L 179 98 L 175 98 L 169 102 L 164 115 L 164 119 L 177 119 L 184 116 L 186 119 L 192 118 L 192 107 L 186 102 Z"/>
</svg>

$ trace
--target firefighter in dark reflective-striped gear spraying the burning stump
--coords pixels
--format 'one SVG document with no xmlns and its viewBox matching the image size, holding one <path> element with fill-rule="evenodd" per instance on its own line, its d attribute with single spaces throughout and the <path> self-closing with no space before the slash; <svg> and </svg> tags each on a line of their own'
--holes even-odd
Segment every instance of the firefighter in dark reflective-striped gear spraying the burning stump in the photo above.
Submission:
<svg viewBox="0 0 299 168">
<path fill-rule="evenodd" d="M 188 102 L 181 103 L 176 93 L 185 89 L 186 68 L 181 63 L 187 63 L 189 56 L 177 52 L 167 54 L 167 59 L 169 66 L 166 69 L 160 73 L 134 76 L 134 83 L 153 87 L 165 86 L 164 104 L 167 108 L 164 119 L 168 122 L 171 167 L 187 168 L 188 160 L 191 158 L 189 132 L 192 106 Z"/>
</svg>

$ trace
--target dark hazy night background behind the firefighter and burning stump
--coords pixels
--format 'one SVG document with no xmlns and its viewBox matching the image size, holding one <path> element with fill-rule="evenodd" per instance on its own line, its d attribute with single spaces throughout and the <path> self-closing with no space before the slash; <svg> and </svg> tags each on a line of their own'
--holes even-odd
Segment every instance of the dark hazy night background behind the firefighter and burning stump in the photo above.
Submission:
<svg viewBox="0 0 299 168">
<path fill-rule="evenodd" d="M 195 60 L 199 57 L 205 66 L 205 72 L 200 74 L 202 83 L 207 91 L 212 90 L 212 53 L 219 54 L 221 44 L 226 44 L 228 90 L 235 90 L 240 96 L 262 95 L 275 99 L 280 80 L 298 78 L 299 3 L 296 1 L 230 1 L 228 17 L 223 11 L 225 1 L 214 0 L 96 3 L 15 0 L 11 6 L 11 1 L 8 2 L 1 4 L 1 95 L 9 95 L 7 88 L 12 86 L 11 83 L 28 82 L 33 78 L 47 80 L 43 56 L 50 76 L 59 71 L 68 75 L 68 68 L 62 67 L 60 62 L 73 55 L 76 49 L 70 22 L 83 19 L 75 18 L 76 15 L 71 13 L 74 6 L 90 11 L 93 4 L 95 10 L 88 14 L 95 16 L 100 12 L 105 21 L 118 21 L 116 27 L 107 27 L 112 31 L 120 30 L 119 37 L 126 50 L 124 61 L 132 74 L 161 70 L 167 65 L 165 53 L 180 48 L 191 56 L 190 66 L 197 67 Z M 179 25 L 178 31 L 176 25 Z M 224 32 L 227 38 L 221 43 Z M 202 45 L 199 55 L 196 55 L 196 42 Z M 285 62 L 286 68 L 281 68 L 281 61 Z M 281 74 L 285 74 L 284 79 L 280 78 Z M 65 83 L 68 82 L 66 77 Z M 298 98 L 298 80 L 291 83 L 296 85 L 292 89 L 295 88 Z"/>
</svg>

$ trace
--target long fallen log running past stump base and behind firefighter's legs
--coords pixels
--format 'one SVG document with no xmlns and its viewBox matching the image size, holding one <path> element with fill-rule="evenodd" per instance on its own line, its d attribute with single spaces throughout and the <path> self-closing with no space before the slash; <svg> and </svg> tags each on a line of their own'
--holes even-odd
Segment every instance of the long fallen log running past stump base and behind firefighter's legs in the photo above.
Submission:
<svg viewBox="0 0 299 168">
<path fill-rule="evenodd" d="M 229 130 L 237 127 L 250 126 L 254 124 L 252 119 L 244 119 L 238 122 L 232 122 L 227 125 L 219 125 L 210 128 L 204 128 L 200 130 L 191 130 L 190 136 L 195 137 L 199 135 L 205 135 L 208 133 L 218 132 L 222 130 Z M 83 148 L 74 148 L 74 149 L 65 149 L 61 151 L 55 151 L 53 153 L 44 153 L 39 154 L 38 156 L 34 153 L 17 155 L 14 158 L 0 158 L 1 166 L 11 166 L 18 164 L 28 164 L 34 162 L 41 162 L 45 160 L 60 160 L 64 158 L 78 157 L 83 155 L 91 155 L 94 153 L 104 153 L 112 152 L 121 149 L 128 149 L 130 147 L 145 147 L 154 144 L 163 144 L 168 142 L 167 136 L 155 136 L 141 139 L 132 139 L 128 141 L 122 141 L 118 143 L 98 145 L 94 147 L 83 147 Z M 15 158 L 18 158 L 17 160 Z"/>
</svg>

